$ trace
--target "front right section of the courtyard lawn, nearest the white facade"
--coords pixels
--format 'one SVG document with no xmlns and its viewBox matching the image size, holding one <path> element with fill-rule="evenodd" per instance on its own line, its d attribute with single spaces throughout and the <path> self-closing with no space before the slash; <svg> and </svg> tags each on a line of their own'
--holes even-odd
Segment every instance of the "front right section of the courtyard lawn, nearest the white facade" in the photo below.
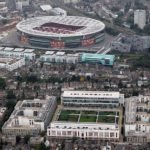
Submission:
<svg viewBox="0 0 150 150">
<path fill-rule="evenodd" d="M 115 123 L 115 116 L 98 116 L 98 122 Z"/>
</svg>

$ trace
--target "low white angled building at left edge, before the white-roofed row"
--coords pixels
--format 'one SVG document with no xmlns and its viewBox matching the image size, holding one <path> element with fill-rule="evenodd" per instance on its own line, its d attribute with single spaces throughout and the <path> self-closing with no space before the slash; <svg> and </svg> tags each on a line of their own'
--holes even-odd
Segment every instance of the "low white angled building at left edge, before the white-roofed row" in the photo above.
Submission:
<svg viewBox="0 0 150 150">
<path fill-rule="evenodd" d="M 13 71 L 25 65 L 24 58 L 0 57 L 0 68 Z"/>
</svg>

